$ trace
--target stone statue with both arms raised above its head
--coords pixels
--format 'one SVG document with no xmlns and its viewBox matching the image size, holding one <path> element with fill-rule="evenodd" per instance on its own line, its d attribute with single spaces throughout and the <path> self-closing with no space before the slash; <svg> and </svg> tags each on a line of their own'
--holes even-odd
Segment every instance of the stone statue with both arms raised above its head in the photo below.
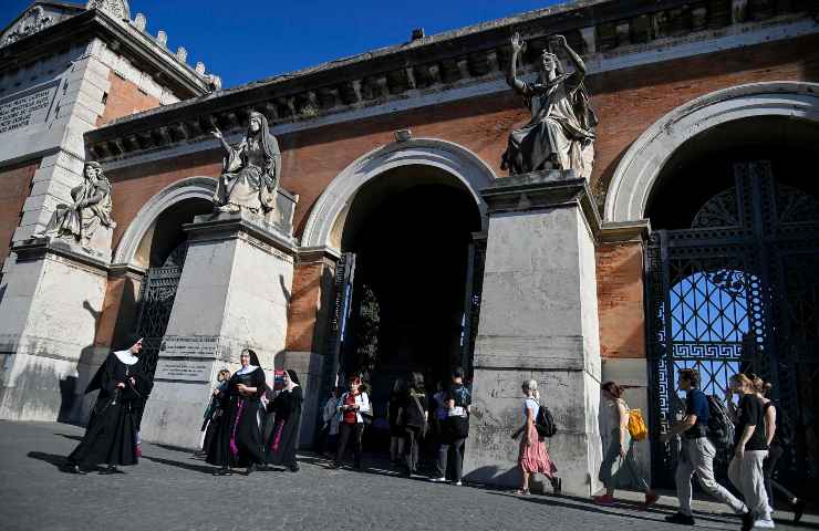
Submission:
<svg viewBox="0 0 819 531">
<path fill-rule="evenodd" d="M 574 65 L 566 73 L 551 46 L 562 48 Z M 594 159 L 594 126 L 598 118 L 589 104 L 583 85 L 585 65 L 569 48 L 563 35 L 557 35 L 543 51 L 540 75 L 533 83 L 518 77 L 518 55 L 526 43 L 516 33 L 511 38 L 512 56 L 508 83 L 523 96 L 531 119 L 509 135 L 509 145 L 500 167 L 509 175 L 545 169 L 573 169 L 578 177 L 589 178 Z"/>
</svg>

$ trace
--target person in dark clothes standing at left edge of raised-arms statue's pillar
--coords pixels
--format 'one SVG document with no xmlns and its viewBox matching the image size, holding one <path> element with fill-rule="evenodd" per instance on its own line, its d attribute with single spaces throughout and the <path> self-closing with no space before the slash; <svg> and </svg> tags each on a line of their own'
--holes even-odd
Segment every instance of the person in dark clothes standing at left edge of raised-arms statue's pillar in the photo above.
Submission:
<svg viewBox="0 0 819 531">
<path fill-rule="evenodd" d="M 454 477 L 453 485 L 460 486 L 464 467 L 464 446 L 469 436 L 469 410 L 471 407 L 471 394 L 464 385 L 464 369 L 462 367 L 453 371 L 452 385 L 443 395 L 440 420 L 440 444 L 438 445 L 438 459 L 435 462 L 437 476 L 431 478 L 434 482 L 446 481 L 448 462 L 452 462 Z M 449 451 L 454 459 L 449 461 Z"/>
</svg>

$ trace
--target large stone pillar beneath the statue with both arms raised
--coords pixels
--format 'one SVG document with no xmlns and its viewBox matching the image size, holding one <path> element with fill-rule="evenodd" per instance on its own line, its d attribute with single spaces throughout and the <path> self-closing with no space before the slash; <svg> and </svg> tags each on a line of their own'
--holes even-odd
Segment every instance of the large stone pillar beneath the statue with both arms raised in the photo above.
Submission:
<svg viewBox="0 0 819 531">
<path fill-rule="evenodd" d="M 475 347 L 467 478 L 519 485 L 523 381 L 538 381 L 558 434 L 548 439 L 563 490 L 598 490 L 600 342 L 594 263 L 599 217 L 584 179 L 543 171 L 498 179 L 489 207 Z"/>
</svg>

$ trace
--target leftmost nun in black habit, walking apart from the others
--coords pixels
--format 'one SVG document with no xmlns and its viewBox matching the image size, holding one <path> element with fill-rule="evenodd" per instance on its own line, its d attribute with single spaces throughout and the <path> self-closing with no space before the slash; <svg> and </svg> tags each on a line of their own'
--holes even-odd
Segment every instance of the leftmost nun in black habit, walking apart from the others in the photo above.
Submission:
<svg viewBox="0 0 819 531">
<path fill-rule="evenodd" d="M 108 465 L 104 472 L 117 472 L 117 466 L 136 465 L 136 436 L 139 409 L 151 392 L 151 381 L 145 374 L 142 337 L 129 336 L 124 350 L 108 354 L 85 393 L 100 389 L 85 436 L 69 456 L 75 473 L 86 473 L 101 464 Z"/>
</svg>

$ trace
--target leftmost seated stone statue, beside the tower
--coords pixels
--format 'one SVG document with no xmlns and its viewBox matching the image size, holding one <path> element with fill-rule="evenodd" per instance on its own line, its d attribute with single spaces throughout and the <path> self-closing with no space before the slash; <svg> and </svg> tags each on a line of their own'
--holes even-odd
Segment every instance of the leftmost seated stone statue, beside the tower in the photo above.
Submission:
<svg viewBox="0 0 819 531">
<path fill-rule="evenodd" d="M 58 205 L 45 230 L 33 238 L 65 238 L 87 246 L 100 226 L 116 227 L 111 219 L 111 183 L 102 167 L 99 163 L 87 163 L 83 174 L 83 184 L 71 189 L 73 205 Z"/>
</svg>

